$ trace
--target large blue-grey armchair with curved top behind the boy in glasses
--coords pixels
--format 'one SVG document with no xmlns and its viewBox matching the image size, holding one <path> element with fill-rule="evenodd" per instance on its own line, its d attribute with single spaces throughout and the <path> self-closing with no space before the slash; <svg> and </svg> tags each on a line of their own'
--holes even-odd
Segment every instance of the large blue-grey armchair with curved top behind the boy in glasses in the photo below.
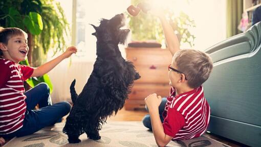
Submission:
<svg viewBox="0 0 261 147">
<path fill-rule="evenodd" d="M 208 131 L 261 146 L 261 22 L 205 52 L 214 68 L 203 84 L 211 108 Z"/>
</svg>

